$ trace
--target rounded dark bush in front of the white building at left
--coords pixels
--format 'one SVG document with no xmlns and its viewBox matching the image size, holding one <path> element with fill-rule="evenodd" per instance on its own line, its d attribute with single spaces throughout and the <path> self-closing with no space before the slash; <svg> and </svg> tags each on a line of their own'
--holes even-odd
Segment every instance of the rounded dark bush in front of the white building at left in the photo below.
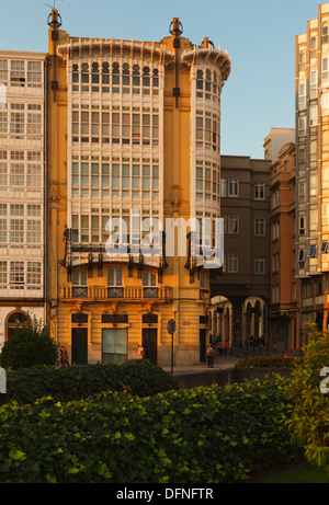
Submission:
<svg viewBox="0 0 329 505">
<path fill-rule="evenodd" d="M 55 365 L 58 346 L 50 336 L 49 329 L 34 319 L 25 326 L 18 326 L 4 342 L 1 351 L 3 368 L 29 368 L 35 365 Z"/>
</svg>

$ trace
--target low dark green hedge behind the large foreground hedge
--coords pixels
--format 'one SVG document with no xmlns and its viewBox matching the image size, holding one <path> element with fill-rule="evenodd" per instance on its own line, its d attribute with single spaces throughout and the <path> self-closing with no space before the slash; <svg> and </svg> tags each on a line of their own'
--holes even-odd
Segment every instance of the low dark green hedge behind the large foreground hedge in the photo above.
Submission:
<svg viewBox="0 0 329 505">
<path fill-rule="evenodd" d="M 126 388 L 133 394 L 144 397 L 179 387 L 178 379 L 145 359 L 123 365 L 75 365 L 59 369 L 32 367 L 7 372 L 7 394 L 0 394 L 0 403 L 11 400 L 30 403 L 48 395 L 58 401 L 71 401 Z"/>
</svg>

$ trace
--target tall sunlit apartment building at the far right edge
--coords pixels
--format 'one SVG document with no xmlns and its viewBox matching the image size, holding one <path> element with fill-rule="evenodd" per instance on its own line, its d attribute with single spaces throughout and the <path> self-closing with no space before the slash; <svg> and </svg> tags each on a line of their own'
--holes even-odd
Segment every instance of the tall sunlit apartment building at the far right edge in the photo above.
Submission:
<svg viewBox="0 0 329 505">
<path fill-rule="evenodd" d="M 307 324 L 328 328 L 329 296 L 329 3 L 296 36 L 296 275 L 300 279 L 300 342 Z"/>
</svg>

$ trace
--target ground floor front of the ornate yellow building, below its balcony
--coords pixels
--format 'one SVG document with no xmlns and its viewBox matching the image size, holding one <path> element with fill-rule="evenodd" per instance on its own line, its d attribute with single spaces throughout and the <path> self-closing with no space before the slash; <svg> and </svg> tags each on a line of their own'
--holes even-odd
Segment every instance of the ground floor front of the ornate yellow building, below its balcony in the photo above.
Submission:
<svg viewBox="0 0 329 505">
<path fill-rule="evenodd" d="M 168 332 L 173 319 L 175 332 Z M 147 306 L 59 303 L 52 310 L 52 334 L 66 347 L 71 364 L 116 363 L 137 358 L 143 345 L 145 358 L 159 366 L 196 365 L 205 360 L 209 342 L 204 303 Z"/>
</svg>

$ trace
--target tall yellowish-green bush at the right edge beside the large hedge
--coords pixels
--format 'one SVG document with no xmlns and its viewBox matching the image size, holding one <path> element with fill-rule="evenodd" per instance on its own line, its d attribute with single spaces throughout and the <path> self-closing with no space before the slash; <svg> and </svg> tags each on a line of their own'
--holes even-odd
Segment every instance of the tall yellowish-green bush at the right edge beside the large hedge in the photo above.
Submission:
<svg viewBox="0 0 329 505">
<path fill-rule="evenodd" d="M 308 461 L 329 470 L 329 393 L 320 391 L 320 370 L 329 367 L 329 333 L 310 324 L 303 366 L 293 370 L 287 382 L 293 402 L 287 425 L 294 440 L 305 444 Z"/>
</svg>

